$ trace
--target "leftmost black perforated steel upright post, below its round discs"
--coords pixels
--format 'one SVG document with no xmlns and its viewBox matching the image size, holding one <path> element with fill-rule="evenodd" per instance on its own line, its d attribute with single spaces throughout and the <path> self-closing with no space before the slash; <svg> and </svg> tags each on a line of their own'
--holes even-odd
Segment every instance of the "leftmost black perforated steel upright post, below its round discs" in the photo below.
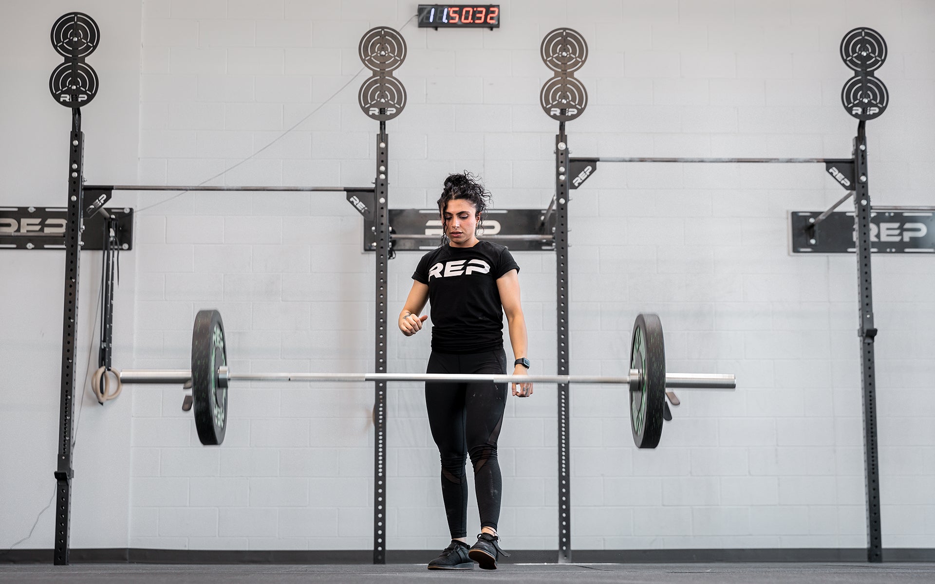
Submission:
<svg viewBox="0 0 935 584">
<path fill-rule="evenodd" d="M 68 563 L 68 533 L 71 520 L 72 421 L 75 414 L 75 345 L 78 330 L 78 275 L 81 259 L 81 230 L 84 206 L 81 177 L 84 135 L 81 110 L 72 110 L 71 144 L 68 155 L 68 221 L 65 228 L 65 299 L 62 326 L 62 397 L 59 409 L 59 441 L 55 480 L 55 565 Z"/>
</svg>

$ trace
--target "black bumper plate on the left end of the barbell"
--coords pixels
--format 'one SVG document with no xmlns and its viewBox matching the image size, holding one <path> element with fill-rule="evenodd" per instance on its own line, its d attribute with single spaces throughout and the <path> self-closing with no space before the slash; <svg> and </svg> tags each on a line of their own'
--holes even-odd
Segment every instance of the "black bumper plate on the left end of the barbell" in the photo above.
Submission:
<svg viewBox="0 0 935 584">
<path fill-rule="evenodd" d="M 217 310 L 199 310 L 192 331 L 194 427 L 206 446 L 221 444 L 227 428 L 227 388 L 218 367 L 227 364 L 224 324 Z"/>
</svg>

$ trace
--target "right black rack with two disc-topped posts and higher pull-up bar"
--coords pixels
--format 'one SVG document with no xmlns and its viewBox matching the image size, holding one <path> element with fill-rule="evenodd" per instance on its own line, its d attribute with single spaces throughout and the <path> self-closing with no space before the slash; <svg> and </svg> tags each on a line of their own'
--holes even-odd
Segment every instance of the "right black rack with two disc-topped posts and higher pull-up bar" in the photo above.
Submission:
<svg viewBox="0 0 935 584">
<path fill-rule="evenodd" d="M 867 509 L 867 560 L 883 562 L 883 535 L 880 512 L 880 476 L 877 455 L 876 422 L 876 378 L 873 341 L 877 329 L 873 324 L 873 295 L 870 272 L 870 190 L 867 164 L 866 123 L 878 118 L 888 105 L 888 93 L 882 80 L 874 71 L 884 63 L 886 43 L 876 31 L 858 27 L 848 32 L 841 40 L 841 59 L 851 68 L 855 77 L 850 78 L 841 92 L 841 104 L 858 120 L 857 133 L 853 140 L 851 158 L 725 158 L 725 157 L 597 157 L 573 158 L 568 149 L 565 122 L 579 117 L 587 107 L 587 91 L 583 83 L 574 77 L 574 71 L 582 67 L 587 59 L 587 43 L 583 36 L 569 28 L 558 28 L 548 33 L 540 46 L 542 61 L 554 71 L 554 77 L 542 86 L 539 103 L 547 115 L 558 121 L 555 136 L 555 197 L 549 206 L 549 214 L 556 213 L 557 222 L 564 227 L 568 219 L 568 192 L 579 188 L 597 170 L 597 163 L 715 163 L 715 164 L 825 164 L 827 173 L 835 178 L 848 194 L 822 213 L 806 229 L 814 237 L 818 224 L 839 207 L 850 196 L 855 203 L 855 237 L 857 255 L 857 285 L 859 291 L 857 335 L 860 338 L 860 374 L 863 392 L 864 421 L 864 471 Z M 569 180 L 570 178 L 570 180 Z M 567 238 L 556 232 L 559 298 L 566 299 Z M 560 351 L 568 346 L 568 332 L 564 327 L 564 313 L 559 310 L 558 342 Z M 563 365 L 562 353 L 559 367 Z M 559 562 L 570 562 L 571 534 L 568 527 L 570 506 L 568 504 L 568 386 L 559 390 Z"/>
</svg>

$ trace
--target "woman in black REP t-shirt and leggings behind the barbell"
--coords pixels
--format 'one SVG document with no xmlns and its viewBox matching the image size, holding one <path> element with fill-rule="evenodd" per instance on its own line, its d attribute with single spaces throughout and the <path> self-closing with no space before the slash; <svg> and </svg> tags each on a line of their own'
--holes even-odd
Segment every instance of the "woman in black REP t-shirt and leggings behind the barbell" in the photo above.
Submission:
<svg viewBox="0 0 935 584">
<path fill-rule="evenodd" d="M 506 373 L 503 314 L 510 328 L 515 356 L 513 375 L 525 375 L 526 330 L 520 306 L 519 265 L 508 249 L 481 241 L 483 212 L 490 193 L 470 174 L 451 175 L 439 198 L 442 245 L 426 253 L 412 274 L 412 290 L 399 314 L 399 330 L 411 336 L 422 330 L 432 303 L 432 354 L 426 373 Z M 531 383 L 512 384 L 517 397 L 532 394 Z M 426 382 L 425 406 L 432 437 L 441 454 L 441 496 L 448 515 L 452 543 L 429 569 L 465 570 L 474 562 L 496 569 L 502 479 L 496 461 L 496 439 L 507 404 L 505 383 Z M 481 512 L 481 534 L 468 548 L 468 480 L 470 455 L 474 487 Z M 472 562 L 473 561 L 473 562 Z"/>
</svg>

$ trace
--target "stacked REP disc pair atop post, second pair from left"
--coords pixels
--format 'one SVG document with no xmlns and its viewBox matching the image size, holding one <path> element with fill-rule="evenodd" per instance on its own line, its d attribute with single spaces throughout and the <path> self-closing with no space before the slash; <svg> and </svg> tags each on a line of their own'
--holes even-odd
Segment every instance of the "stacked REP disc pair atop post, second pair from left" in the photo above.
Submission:
<svg viewBox="0 0 935 584">
<path fill-rule="evenodd" d="M 357 104 L 373 120 L 396 118 L 406 107 L 406 88 L 392 72 L 406 60 L 406 40 L 396 30 L 378 26 L 361 37 L 357 53 L 375 74 L 360 86 Z"/>
</svg>

